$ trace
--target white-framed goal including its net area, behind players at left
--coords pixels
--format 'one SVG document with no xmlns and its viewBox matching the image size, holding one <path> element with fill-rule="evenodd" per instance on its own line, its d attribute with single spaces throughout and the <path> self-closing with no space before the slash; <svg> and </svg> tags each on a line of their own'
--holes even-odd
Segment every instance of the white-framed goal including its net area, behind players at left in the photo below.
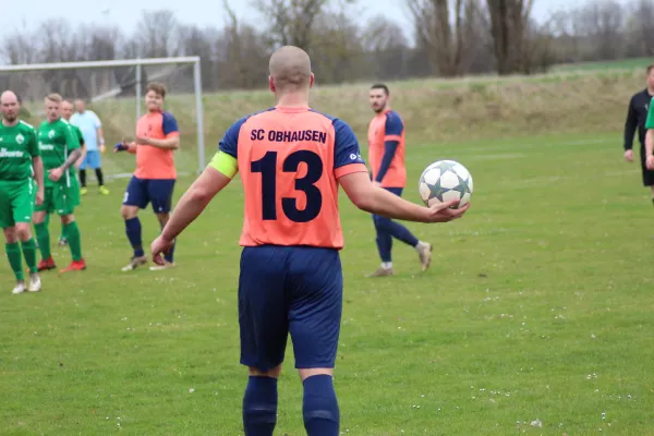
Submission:
<svg viewBox="0 0 654 436">
<path fill-rule="evenodd" d="M 174 153 L 180 174 L 205 167 L 199 58 L 162 58 L 92 62 L 0 65 L 0 89 L 15 92 L 23 104 L 23 119 L 33 125 L 45 120 L 44 97 L 61 94 L 82 99 L 102 123 L 107 152 L 102 169 L 109 179 L 128 178 L 134 171 L 133 155 L 113 154 L 123 138 L 135 137 L 136 120 L 145 113 L 149 82 L 166 86 L 165 109 L 178 120 L 181 147 Z"/>
</svg>

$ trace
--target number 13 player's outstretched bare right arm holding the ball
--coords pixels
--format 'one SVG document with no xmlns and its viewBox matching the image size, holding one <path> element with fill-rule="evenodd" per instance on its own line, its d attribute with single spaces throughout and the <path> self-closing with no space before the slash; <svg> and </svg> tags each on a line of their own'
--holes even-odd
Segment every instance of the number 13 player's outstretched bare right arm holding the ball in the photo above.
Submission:
<svg viewBox="0 0 654 436">
<path fill-rule="evenodd" d="M 470 207 L 470 205 L 465 205 L 458 209 L 450 209 L 451 206 L 459 203 L 458 201 L 429 208 L 419 206 L 376 186 L 365 172 L 343 175 L 338 182 L 356 207 L 388 218 L 416 222 L 448 222 L 461 218 Z"/>
</svg>

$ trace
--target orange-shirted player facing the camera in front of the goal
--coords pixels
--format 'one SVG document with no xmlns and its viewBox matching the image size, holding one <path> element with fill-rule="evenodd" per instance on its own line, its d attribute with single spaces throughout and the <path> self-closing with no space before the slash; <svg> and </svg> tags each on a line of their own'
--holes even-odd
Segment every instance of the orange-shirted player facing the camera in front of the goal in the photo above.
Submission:
<svg viewBox="0 0 654 436">
<path fill-rule="evenodd" d="M 172 208 L 172 193 L 177 179 L 173 150 L 180 147 L 178 122 L 172 113 L 164 110 L 166 87 L 158 83 L 147 85 L 145 105 L 147 113 L 136 124 L 136 141 L 116 144 L 114 152 L 136 154 L 136 171 L 130 180 L 123 198 L 121 214 L 125 232 L 134 254 L 123 271 L 147 264 L 141 237 L 138 209 L 152 203 L 161 228 L 166 226 Z M 166 262 L 150 267 L 152 270 L 174 266 L 174 247 L 166 254 Z"/>
</svg>

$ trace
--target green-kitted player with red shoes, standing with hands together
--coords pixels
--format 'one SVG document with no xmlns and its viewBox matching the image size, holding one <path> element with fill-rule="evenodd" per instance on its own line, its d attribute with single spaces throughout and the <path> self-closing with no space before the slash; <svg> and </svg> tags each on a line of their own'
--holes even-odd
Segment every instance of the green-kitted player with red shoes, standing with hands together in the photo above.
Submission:
<svg viewBox="0 0 654 436">
<path fill-rule="evenodd" d="M 46 216 L 52 213 L 61 217 L 73 257 L 73 262 L 61 272 L 86 269 L 80 228 L 73 215 L 75 206 L 80 205 L 80 185 L 70 171 L 81 156 L 80 140 L 71 124 L 61 118 L 62 100 L 59 94 L 46 97 L 47 120 L 38 126 L 38 146 L 47 172 L 44 203 L 36 206 L 34 213 L 34 228 L 41 252 L 39 271 L 57 268 L 50 252 L 50 232 L 46 222 Z"/>
</svg>

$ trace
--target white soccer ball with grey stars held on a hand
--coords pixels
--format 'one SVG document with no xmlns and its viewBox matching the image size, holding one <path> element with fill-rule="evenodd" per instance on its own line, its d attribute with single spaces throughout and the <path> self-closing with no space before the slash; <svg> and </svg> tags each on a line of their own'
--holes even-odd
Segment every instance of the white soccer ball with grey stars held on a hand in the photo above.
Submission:
<svg viewBox="0 0 654 436">
<path fill-rule="evenodd" d="M 472 195 L 472 175 L 455 160 L 438 160 L 420 175 L 420 196 L 427 206 L 459 201 L 452 209 L 465 206 Z"/>
</svg>

